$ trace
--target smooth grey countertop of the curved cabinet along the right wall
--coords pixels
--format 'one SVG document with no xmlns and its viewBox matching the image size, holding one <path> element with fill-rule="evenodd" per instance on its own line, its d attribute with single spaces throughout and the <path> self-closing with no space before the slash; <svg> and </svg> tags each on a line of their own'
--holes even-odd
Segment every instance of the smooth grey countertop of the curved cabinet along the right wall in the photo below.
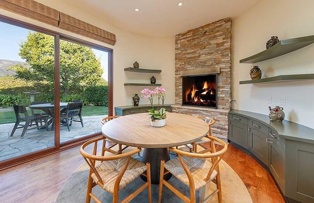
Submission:
<svg viewBox="0 0 314 203">
<path fill-rule="evenodd" d="M 268 115 L 260 113 L 241 110 L 230 110 L 229 113 L 243 115 L 251 119 L 262 121 L 265 125 L 275 129 L 281 138 L 314 144 L 314 129 L 304 125 L 288 120 L 283 120 L 283 122 L 273 122 L 269 120 Z"/>
</svg>

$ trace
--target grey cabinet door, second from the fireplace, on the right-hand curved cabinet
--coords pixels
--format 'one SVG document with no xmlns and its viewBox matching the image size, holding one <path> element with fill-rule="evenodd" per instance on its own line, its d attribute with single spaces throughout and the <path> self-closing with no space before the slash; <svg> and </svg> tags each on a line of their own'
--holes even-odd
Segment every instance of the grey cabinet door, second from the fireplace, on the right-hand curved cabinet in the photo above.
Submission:
<svg viewBox="0 0 314 203">
<path fill-rule="evenodd" d="M 260 131 L 250 128 L 249 131 L 249 151 L 268 165 L 268 143 L 267 135 Z"/>
</svg>

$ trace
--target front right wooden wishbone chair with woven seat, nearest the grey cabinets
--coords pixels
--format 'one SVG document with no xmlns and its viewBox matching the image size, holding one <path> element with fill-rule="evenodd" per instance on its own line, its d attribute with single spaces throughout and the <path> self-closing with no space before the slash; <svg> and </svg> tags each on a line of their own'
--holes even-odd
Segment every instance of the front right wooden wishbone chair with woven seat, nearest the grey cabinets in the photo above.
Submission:
<svg viewBox="0 0 314 203">
<path fill-rule="evenodd" d="M 209 201 L 214 195 L 218 194 L 218 202 L 222 203 L 220 173 L 218 163 L 224 153 L 227 151 L 227 144 L 216 138 L 209 136 L 211 153 L 199 154 L 194 152 L 186 152 L 173 147 L 169 148 L 170 151 L 178 154 L 178 157 L 170 159 L 165 163 L 161 160 L 160 163 L 160 181 L 159 181 L 159 197 L 158 203 L 161 203 L 162 186 L 165 185 L 172 192 L 174 192 L 185 203 L 195 203 L 196 190 L 201 189 L 210 182 L 214 182 L 217 189 L 213 191 L 203 202 Z M 220 143 L 223 148 L 216 151 L 214 141 Z M 211 162 L 208 160 L 211 159 Z M 166 170 L 165 170 L 166 169 Z M 164 174 L 171 173 L 178 180 L 182 181 L 190 188 L 190 197 L 185 196 L 176 187 L 171 185 L 167 180 L 163 179 Z"/>
</svg>

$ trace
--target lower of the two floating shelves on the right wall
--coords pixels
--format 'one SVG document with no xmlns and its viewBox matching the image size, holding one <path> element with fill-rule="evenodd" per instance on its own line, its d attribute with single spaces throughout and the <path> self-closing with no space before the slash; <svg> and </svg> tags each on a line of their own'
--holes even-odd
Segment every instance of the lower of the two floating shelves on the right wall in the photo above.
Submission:
<svg viewBox="0 0 314 203">
<path fill-rule="evenodd" d="M 312 80 L 312 79 L 314 79 L 314 74 L 278 75 L 278 76 L 269 77 L 269 78 L 240 81 L 240 85 L 242 85 L 242 84 L 258 84 L 258 83 L 293 82 L 293 81 Z"/>
</svg>

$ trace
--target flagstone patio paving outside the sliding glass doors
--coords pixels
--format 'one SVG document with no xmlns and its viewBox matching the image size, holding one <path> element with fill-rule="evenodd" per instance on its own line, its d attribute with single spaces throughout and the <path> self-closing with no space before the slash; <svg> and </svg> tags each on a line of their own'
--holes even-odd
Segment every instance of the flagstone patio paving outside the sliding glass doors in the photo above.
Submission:
<svg viewBox="0 0 314 203">
<path fill-rule="evenodd" d="M 83 116 L 84 127 L 80 122 L 73 122 L 70 126 L 70 132 L 67 126 L 60 126 L 60 142 L 77 139 L 86 135 L 101 132 L 103 117 L 107 115 Z M 21 138 L 22 129 L 17 129 L 13 136 L 14 123 L 0 125 L 0 161 L 25 155 L 41 149 L 46 149 L 54 145 L 54 131 L 46 129 L 37 130 L 33 128 L 27 130 L 24 137 Z"/>
</svg>

